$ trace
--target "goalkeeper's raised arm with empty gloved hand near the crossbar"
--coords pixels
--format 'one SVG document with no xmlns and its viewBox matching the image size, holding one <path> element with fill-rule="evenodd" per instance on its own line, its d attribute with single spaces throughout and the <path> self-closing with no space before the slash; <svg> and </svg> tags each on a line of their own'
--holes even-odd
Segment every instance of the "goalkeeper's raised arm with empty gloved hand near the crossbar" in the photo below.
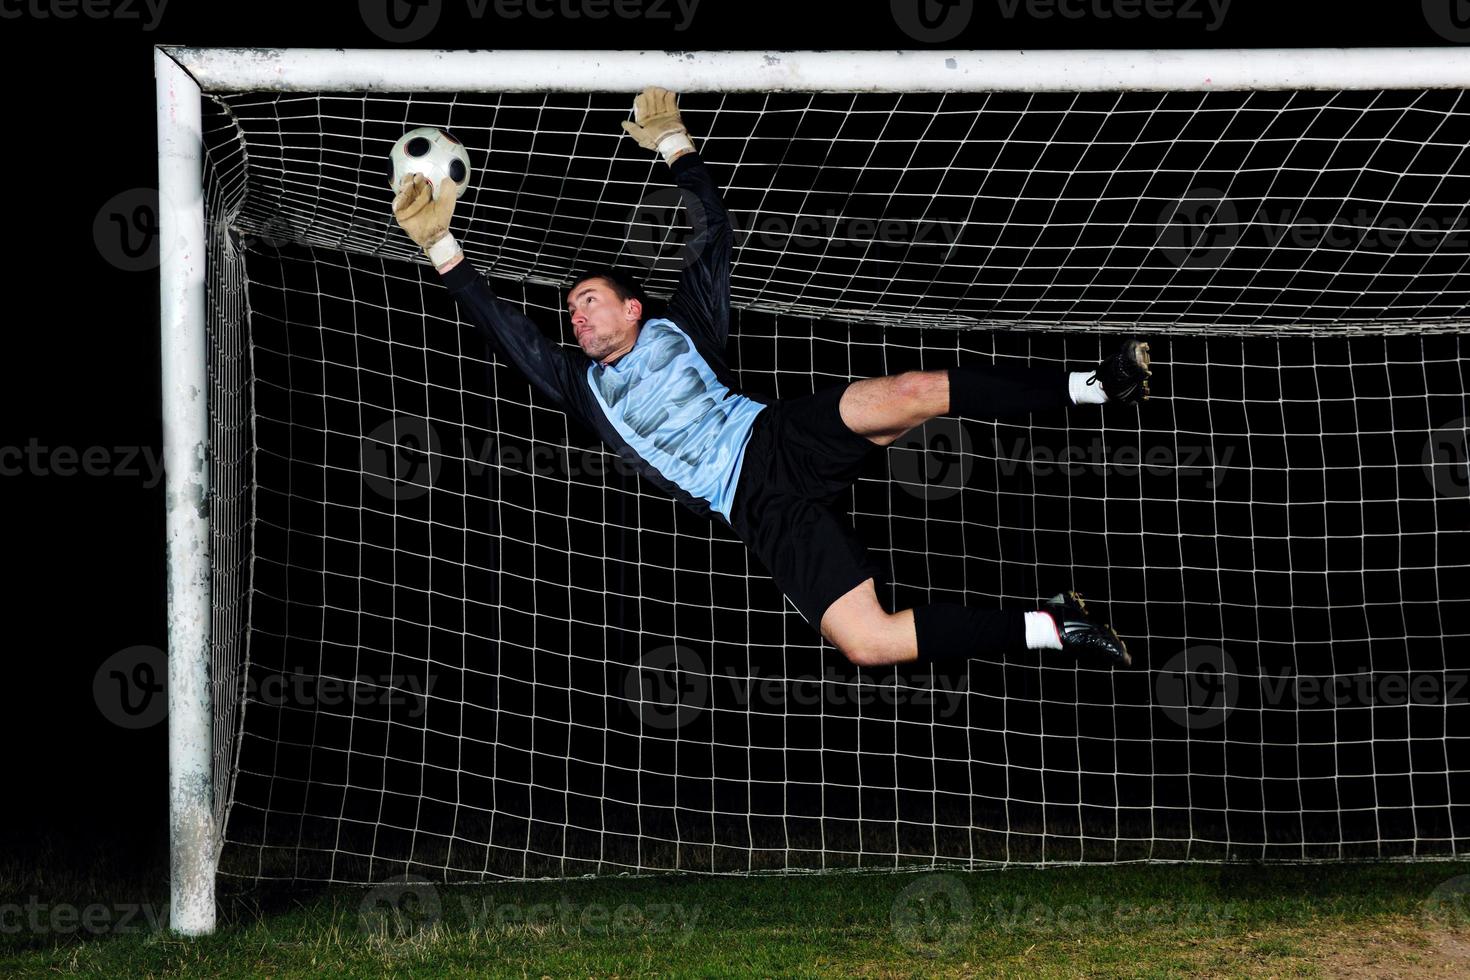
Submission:
<svg viewBox="0 0 1470 980">
<path fill-rule="evenodd" d="M 698 331 L 717 348 L 729 338 L 731 251 L 735 234 L 720 188 L 694 151 L 673 93 L 650 87 L 634 103 L 637 122 L 623 122 L 639 145 L 663 153 L 689 212 L 694 237 L 685 245 L 679 287 L 669 301 L 669 317 Z"/>
</svg>

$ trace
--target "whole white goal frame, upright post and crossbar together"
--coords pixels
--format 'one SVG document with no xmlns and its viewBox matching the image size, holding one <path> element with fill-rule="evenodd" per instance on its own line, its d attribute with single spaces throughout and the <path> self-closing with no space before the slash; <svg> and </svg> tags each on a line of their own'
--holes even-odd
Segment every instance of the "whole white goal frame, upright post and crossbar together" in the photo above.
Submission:
<svg viewBox="0 0 1470 980">
<path fill-rule="evenodd" d="M 172 907 L 215 929 L 234 708 L 212 633 L 209 232 L 201 100 L 229 93 L 1147 93 L 1470 90 L 1463 48 L 1197 51 L 154 50 L 159 140 Z M 697 143 L 698 145 L 698 143 Z M 551 276 L 554 279 L 554 276 Z M 804 307 L 794 307 L 806 311 Z M 1439 331 L 1461 331 L 1441 317 Z M 234 680 L 229 682 L 231 685 Z M 225 739 L 226 743 L 220 745 Z"/>
</svg>

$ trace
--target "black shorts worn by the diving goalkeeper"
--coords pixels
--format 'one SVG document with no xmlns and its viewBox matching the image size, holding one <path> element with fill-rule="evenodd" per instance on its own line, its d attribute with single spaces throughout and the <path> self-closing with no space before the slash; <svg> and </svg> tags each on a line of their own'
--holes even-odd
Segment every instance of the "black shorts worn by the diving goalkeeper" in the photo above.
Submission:
<svg viewBox="0 0 1470 980">
<path fill-rule="evenodd" d="M 756 416 L 731 505 L 735 533 L 819 633 L 832 602 L 883 573 L 832 505 L 881 448 L 838 413 L 850 383 L 773 401 Z"/>
</svg>

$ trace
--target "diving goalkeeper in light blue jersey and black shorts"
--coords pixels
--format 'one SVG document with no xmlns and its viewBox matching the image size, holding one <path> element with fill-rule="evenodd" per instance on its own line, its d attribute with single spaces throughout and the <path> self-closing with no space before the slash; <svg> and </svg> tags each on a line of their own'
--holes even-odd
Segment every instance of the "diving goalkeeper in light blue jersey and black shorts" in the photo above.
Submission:
<svg viewBox="0 0 1470 980">
<path fill-rule="evenodd" d="M 598 433 L 644 478 L 701 516 L 719 516 L 806 620 L 856 664 L 875 667 L 1020 649 L 1058 649 L 1108 666 L 1127 648 L 1063 592 L 1036 610 L 956 604 L 889 613 L 881 569 L 833 498 L 864 460 L 945 414 L 992 419 L 1061 406 L 1148 397 L 1148 344 L 1127 341 L 1094 370 L 951 367 L 847 382 L 792 398 L 744 392 L 725 366 L 734 232 L 720 191 L 694 151 L 675 96 L 647 88 L 623 128 L 656 150 L 698 201 L 692 259 L 666 316 L 644 316 L 638 284 L 614 270 L 572 282 L 573 353 L 500 300 L 450 235 L 454 194 L 415 176 L 394 216 L 423 248 L 492 350 L 541 394 Z M 692 206 L 691 206 L 692 210 Z"/>
</svg>

